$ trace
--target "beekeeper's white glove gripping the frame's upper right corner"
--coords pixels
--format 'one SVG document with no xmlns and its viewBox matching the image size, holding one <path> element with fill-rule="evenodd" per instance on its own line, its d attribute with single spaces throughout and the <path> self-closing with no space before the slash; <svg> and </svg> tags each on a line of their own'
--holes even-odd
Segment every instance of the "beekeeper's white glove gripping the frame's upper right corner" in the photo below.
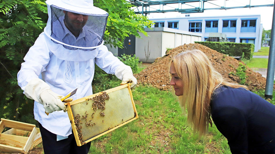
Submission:
<svg viewBox="0 0 275 154">
<path fill-rule="evenodd" d="M 129 82 L 131 89 L 134 89 L 136 87 L 137 80 L 134 77 L 132 70 L 123 69 L 119 67 L 116 69 L 115 75 L 118 79 L 122 79 L 120 85 L 127 84 Z"/>
</svg>

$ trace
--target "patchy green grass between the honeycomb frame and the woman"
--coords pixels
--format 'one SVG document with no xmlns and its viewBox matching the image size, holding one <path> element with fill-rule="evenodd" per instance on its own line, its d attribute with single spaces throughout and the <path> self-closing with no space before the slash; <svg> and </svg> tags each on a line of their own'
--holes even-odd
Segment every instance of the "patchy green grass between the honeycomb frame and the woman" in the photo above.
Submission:
<svg viewBox="0 0 275 154">
<path fill-rule="evenodd" d="M 230 153 L 215 126 L 202 139 L 193 135 L 170 91 L 140 85 L 132 94 L 139 118 L 93 140 L 89 153 Z"/>
</svg>

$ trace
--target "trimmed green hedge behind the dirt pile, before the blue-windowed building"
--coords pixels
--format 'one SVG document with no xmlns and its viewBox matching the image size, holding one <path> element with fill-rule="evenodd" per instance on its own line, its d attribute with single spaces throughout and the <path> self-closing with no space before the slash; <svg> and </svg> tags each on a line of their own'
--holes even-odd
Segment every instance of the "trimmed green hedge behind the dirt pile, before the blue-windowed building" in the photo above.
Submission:
<svg viewBox="0 0 275 154">
<path fill-rule="evenodd" d="M 251 59 L 254 52 L 254 44 L 251 43 L 234 43 L 234 42 L 198 42 L 220 53 L 229 56 L 241 56 L 242 59 Z"/>
</svg>

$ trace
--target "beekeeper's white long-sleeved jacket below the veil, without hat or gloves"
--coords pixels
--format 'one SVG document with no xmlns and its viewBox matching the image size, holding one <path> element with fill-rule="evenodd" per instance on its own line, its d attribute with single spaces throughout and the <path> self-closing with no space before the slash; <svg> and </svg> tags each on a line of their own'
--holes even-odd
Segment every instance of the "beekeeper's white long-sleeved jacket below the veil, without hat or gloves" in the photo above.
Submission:
<svg viewBox="0 0 275 154">
<path fill-rule="evenodd" d="M 46 43 L 45 43 L 46 42 Z M 58 51 L 53 46 L 56 44 L 42 32 L 35 44 L 29 49 L 29 52 L 24 57 L 24 63 L 17 74 L 18 85 L 25 89 L 29 81 L 35 78 L 40 78 L 45 81 L 51 90 L 59 95 L 66 96 L 72 90 L 78 88 L 72 98 L 79 99 L 88 95 L 92 95 L 92 80 L 94 77 L 95 64 L 109 74 L 115 74 L 117 68 L 124 68 L 132 72 L 131 68 L 123 64 L 117 57 L 113 56 L 108 51 L 106 46 L 100 46 L 92 52 L 90 59 L 87 57 L 77 56 L 72 57 L 72 61 L 60 59 Z M 60 58 L 58 58 L 58 55 Z M 68 55 L 66 55 L 68 59 Z M 122 79 L 122 76 L 117 76 Z M 48 131 L 61 135 L 68 136 L 72 133 L 70 120 L 67 113 L 63 110 L 55 111 L 49 115 L 45 114 L 45 109 L 42 104 L 34 102 L 34 117 Z"/>
</svg>

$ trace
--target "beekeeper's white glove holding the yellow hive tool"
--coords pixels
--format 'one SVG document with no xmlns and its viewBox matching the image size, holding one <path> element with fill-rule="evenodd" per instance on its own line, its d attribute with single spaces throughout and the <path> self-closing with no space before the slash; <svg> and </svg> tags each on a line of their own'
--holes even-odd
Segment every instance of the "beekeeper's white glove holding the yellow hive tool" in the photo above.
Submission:
<svg viewBox="0 0 275 154">
<path fill-rule="evenodd" d="M 43 104 L 45 112 L 47 113 L 60 110 L 66 112 L 67 108 L 63 102 L 72 101 L 72 98 L 68 98 L 62 102 L 61 98 L 64 96 L 54 93 L 50 89 L 50 86 L 39 78 L 29 81 L 25 87 L 24 94 L 26 97 L 33 99 L 40 104 Z"/>
</svg>

